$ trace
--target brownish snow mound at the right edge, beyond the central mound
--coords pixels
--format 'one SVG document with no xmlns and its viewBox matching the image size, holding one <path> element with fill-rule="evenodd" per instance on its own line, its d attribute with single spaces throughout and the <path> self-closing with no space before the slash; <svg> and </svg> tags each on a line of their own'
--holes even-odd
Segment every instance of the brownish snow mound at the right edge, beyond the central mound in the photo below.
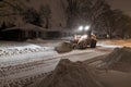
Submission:
<svg viewBox="0 0 131 87">
<path fill-rule="evenodd" d="M 131 72 L 131 48 L 116 48 L 106 57 L 102 67 Z"/>
</svg>

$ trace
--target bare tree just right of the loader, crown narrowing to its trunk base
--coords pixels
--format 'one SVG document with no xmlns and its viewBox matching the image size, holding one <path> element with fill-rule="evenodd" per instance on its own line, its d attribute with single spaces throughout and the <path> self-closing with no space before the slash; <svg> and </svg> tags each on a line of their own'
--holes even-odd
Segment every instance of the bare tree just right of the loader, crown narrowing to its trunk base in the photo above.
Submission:
<svg viewBox="0 0 131 87">
<path fill-rule="evenodd" d="M 100 23 L 103 29 L 109 35 L 110 39 L 117 30 L 118 22 L 121 18 L 121 11 L 111 10 L 110 7 L 106 8 L 106 11 L 100 15 Z"/>
</svg>

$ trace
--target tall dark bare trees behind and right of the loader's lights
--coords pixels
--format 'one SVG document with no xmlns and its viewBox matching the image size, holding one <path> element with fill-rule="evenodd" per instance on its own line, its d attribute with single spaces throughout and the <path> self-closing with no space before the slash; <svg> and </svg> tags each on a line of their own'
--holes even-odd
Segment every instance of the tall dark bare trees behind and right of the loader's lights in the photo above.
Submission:
<svg viewBox="0 0 131 87">
<path fill-rule="evenodd" d="M 88 24 L 91 32 L 105 32 L 109 38 L 131 37 L 131 16 L 120 10 L 112 10 L 105 0 L 67 0 L 68 27 Z M 75 21 L 78 20 L 78 22 Z M 74 26 L 73 26 L 74 27 Z"/>
</svg>

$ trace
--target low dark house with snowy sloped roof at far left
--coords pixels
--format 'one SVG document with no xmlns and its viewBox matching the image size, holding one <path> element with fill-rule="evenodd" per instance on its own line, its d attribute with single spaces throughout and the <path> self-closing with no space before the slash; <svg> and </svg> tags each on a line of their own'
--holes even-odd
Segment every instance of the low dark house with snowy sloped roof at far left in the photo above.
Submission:
<svg viewBox="0 0 131 87">
<path fill-rule="evenodd" d="M 25 40 L 44 36 L 43 28 L 33 24 L 25 24 L 3 29 L 1 36 L 7 40 Z"/>
</svg>

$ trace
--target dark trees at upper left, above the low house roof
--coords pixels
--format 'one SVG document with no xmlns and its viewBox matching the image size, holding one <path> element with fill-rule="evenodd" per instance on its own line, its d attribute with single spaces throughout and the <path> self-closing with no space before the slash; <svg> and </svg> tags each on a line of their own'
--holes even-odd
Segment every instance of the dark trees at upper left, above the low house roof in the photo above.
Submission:
<svg viewBox="0 0 131 87">
<path fill-rule="evenodd" d="M 29 3 L 29 0 L 26 0 Z M 41 5 L 39 10 L 35 10 L 34 8 L 28 8 L 21 0 L 1 0 L 0 1 L 0 24 L 14 23 L 12 21 L 16 21 L 17 17 L 22 17 L 24 23 L 31 23 L 37 26 L 43 26 L 45 24 L 45 28 L 49 28 L 51 10 L 48 4 Z"/>
</svg>

